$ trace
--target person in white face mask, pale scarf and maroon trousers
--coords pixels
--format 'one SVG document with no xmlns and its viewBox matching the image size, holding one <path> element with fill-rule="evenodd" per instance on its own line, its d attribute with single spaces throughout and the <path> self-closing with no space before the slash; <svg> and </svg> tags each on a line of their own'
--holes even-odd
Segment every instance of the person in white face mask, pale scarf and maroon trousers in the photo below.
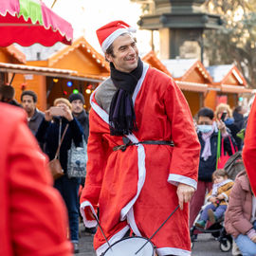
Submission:
<svg viewBox="0 0 256 256">
<path fill-rule="evenodd" d="M 197 136 L 201 144 L 197 191 L 194 192 L 190 204 L 190 227 L 192 228 L 195 217 L 204 204 L 206 192 L 212 189 L 212 173 L 216 169 L 218 131 L 224 137 L 224 150 L 232 155 L 231 141 L 233 137 L 228 133 L 222 120 L 214 121 L 214 113 L 210 108 L 201 108 L 197 114 Z"/>
</svg>

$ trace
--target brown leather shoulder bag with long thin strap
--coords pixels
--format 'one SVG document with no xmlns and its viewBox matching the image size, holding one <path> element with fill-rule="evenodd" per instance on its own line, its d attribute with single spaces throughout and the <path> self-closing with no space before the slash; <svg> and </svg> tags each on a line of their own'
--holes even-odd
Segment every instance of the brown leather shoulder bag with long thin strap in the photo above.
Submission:
<svg viewBox="0 0 256 256">
<path fill-rule="evenodd" d="M 64 135 L 66 133 L 67 128 L 68 128 L 68 124 L 65 126 L 64 134 L 63 134 L 62 138 L 60 139 L 61 130 L 62 130 L 62 126 L 60 125 L 59 146 L 58 146 L 58 149 L 56 151 L 56 154 L 55 154 L 54 158 L 51 161 L 48 162 L 48 167 L 49 167 L 50 173 L 51 173 L 54 180 L 56 180 L 56 179 L 58 179 L 58 178 L 60 178 L 64 175 L 63 167 L 62 167 L 61 162 L 58 158 L 59 158 L 61 145 L 63 143 Z"/>
</svg>

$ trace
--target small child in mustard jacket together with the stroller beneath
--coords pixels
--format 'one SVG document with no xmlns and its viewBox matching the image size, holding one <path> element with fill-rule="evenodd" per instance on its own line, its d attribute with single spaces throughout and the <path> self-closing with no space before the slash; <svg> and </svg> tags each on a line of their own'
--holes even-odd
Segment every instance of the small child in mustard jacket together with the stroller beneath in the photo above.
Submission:
<svg viewBox="0 0 256 256">
<path fill-rule="evenodd" d="M 229 179 L 227 172 L 223 169 L 217 169 L 212 174 L 212 180 L 212 190 L 206 196 L 208 202 L 200 210 L 191 229 L 192 246 L 199 230 L 202 233 L 210 233 L 218 240 L 222 251 L 229 251 L 232 238 L 224 229 L 223 222 L 233 181 Z M 206 227 L 207 229 L 205 229 Z"/>
</svg>

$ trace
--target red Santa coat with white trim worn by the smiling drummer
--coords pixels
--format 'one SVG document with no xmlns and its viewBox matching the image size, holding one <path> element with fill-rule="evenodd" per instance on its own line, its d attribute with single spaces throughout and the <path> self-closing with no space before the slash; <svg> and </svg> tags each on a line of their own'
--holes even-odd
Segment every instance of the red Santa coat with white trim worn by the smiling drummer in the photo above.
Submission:
<svg viewBox="0 0 256 256">
<path fill-rule="evenodd" d="M 144 64 L 133 100 L 138 131 L 128 136 L 130 140 L 173 140 L 174 147 L 138 144 L 124 152 L 113 151 L 123 144 L 122 137 L 110 136 L 108 114 L 92 96 L 81 207 L 85 225 L 90 227 L 92 222 L 83 209 L 100 206 L 101 226 L 110 244 L 129 227 L 136 235 L 150 237 L 178 205 L 176 184 L 194 188 L 197 184 L 200 144 L 188 103 L 174 81 Z M 187 204 L 152 242 L 158 255 L 191 254 Z M 94 246 L 98 255 L 107 248 L 99 229 Z"/>
</svg>

